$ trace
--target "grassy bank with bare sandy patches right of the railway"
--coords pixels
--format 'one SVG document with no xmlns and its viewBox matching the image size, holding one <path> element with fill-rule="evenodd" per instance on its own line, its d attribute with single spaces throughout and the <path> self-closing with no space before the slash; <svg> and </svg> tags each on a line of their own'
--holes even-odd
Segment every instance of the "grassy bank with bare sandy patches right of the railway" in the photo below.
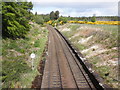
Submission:
<svg viewBox="0 0 120 90">
<path fill-rule="evenodd" d="M 118 26 L 65 24 L 57 27 L 93 64 L 105 83 L 118 88 Z"/>
</svg>

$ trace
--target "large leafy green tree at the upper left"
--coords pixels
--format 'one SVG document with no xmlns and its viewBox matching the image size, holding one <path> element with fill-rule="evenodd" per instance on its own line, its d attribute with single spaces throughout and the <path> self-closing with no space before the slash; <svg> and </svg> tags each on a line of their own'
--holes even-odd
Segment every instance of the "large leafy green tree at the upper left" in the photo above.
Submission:
<svg viewBox="0 0 120 90">
<path fill-rule="evenodd" d="M 32 15 L 31 2 L 2 2 L 2 35 L 9 38 L 25 37 Z"/>
</svg>

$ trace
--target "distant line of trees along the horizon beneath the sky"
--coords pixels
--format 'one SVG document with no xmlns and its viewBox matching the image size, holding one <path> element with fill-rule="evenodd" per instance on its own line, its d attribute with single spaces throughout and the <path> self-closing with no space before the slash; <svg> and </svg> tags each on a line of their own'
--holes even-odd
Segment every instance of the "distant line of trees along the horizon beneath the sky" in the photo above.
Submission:
<svg viewBox="0 0 120 90">
<path fill-rule="evenodd" d="M 118 21 L 118 16 L 91 16 L 91 17 L 71 17 L 71 16 L 59 16 L 59 11 L 52 11 L 50 14 L 37 14 L 35 13 L 35 22 L 43 24 L 49 20 L 63 21 L 64 23 L 70 20 L 74 21 Z"/>
</svg>

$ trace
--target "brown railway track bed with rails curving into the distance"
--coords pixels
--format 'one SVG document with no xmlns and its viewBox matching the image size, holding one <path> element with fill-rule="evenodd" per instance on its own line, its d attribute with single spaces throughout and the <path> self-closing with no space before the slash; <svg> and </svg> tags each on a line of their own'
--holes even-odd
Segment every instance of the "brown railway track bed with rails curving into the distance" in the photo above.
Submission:
<svg viewBox="0 0 120 90">
<path fill-rule="evenodd" d="M 64 37 L 52 26 L 49 30 L 47 60 L 41 88 L 104 89 L 75 55 Z M 82 60 L 81 60 L 82 61 Z"/>
</svg>

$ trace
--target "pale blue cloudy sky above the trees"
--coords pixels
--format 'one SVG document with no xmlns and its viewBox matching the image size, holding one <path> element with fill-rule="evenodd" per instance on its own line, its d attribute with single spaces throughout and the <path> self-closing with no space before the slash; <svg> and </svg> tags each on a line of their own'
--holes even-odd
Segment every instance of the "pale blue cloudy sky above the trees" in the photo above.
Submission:
<svg viewBox="0 0 120 90">
<path fill-rule="evenodd" d="M 60 16 L 88 17 L 117 16 L 119 0 L 27 0 L 33 2 L 32 12 L 49 14 L 59 11 Z"/>
</svg>

